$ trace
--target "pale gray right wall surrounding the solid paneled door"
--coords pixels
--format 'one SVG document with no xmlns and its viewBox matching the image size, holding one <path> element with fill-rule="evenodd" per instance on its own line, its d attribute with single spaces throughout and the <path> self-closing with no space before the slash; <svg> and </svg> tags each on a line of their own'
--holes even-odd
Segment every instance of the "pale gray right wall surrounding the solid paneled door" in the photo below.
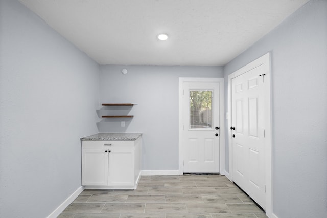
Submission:
<svg viewBox="0 0 327 218">
<path fill-rule="evenodd" d="M 309 2 L 229 62 L 224 67 L 225 81 L 227 75 L 268 51 L 272 63 L 273 211 L 279 218 L 325 217 L 327 1 Z"/>
</svg>

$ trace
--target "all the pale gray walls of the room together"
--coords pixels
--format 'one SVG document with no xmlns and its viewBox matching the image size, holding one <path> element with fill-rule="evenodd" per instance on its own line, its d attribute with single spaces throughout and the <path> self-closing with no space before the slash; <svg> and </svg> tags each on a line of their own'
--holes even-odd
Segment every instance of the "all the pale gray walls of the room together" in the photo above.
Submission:
<svg viewBox="0 0 327 218">
<path fill-rule="evenodd" d="M 178 77 L 223 77 L 221 67 L 102 66 L 99 78 L 98 64 L 35 14 L 0 3 L 0 217 L 56 209 L 80 187 L 79 138 L 98 130 L 142 132 L 143 169 L 178 169 Z M 271 52 L 279 218 L 327 213 L 326 11 L 326 1 L 309 2 L 224 67 L 226 79 Z M 97 111 L 109 102 L 138 105 Z M 121 112 L 135 117 L 98 119 Z"/>
</svg>

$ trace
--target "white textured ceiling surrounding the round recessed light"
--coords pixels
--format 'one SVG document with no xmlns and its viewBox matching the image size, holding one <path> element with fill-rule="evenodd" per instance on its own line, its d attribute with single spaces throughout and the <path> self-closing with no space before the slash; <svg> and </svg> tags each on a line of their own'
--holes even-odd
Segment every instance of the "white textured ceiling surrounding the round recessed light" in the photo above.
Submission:
<svg viewBox="0 0 327 218">
<path fill-rule="evenodd" d="M 20 0 L 99 64 L 199 66 L 223 66 L 308 1 Z"/>
</svg>

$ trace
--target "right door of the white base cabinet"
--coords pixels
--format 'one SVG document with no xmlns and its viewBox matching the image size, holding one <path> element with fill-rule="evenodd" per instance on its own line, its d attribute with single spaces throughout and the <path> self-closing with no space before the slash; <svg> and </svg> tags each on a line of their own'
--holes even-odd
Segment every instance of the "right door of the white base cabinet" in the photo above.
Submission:
<svg viewBox="0 0 327 218">
<path fill-rule="evenodd" d="M 108 185 L 134 185 L 134 149 L 109 151 Z"/>
</svg>

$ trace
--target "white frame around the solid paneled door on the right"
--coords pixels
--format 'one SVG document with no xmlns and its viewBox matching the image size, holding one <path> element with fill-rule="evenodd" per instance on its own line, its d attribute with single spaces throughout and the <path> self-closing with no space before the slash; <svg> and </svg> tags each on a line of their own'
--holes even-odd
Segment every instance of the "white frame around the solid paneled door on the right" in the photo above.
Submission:
<svg viewBox="0 0 327 218">
<path fill-rule="evenodd" d="M 246 64 L 246 66 L 241 69 L 228 75 L 228 157 L 229 157 L 229 173 L 226 173 L 226 176 L 230 181 L 233 181 L 233 147 L 232 147 L 232 138 L 231 138 L 231 80 L 237 76 L 240 76 L 256 67 L 263 65 L 266 74 L 264 76 L 265 86 L 265 148 L 264 148 L 264 157 L 265 157 L 265 189 L 266 189 L 266 215 L 272 217 L 272 148 L 271 148 L 271 64 L 270 64 L 270 53 L 259 57 L 258 59 Z"/>
</svg>

